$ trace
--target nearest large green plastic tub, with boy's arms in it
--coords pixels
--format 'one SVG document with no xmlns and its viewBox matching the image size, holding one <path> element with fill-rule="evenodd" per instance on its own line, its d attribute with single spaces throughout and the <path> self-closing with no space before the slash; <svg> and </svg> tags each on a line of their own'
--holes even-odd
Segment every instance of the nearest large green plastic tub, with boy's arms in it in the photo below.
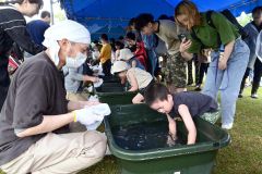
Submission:
<svg viewBox="0 0 262 174">
<path fill-rule="evenodd" d="M 174 147 L 127 150 L 115 139 L 114 127 L 132 124 L 166 122 L 164 114 L 144 104 L 114 105 L 111 114 L 105 117 L 105 130 L 111 153 L 118 159 L 122 174 L 210 174 L 215 164 L 218 149 L 230 142 L 230 136 L 222 128 L 196 117 L 195 145 L 175 145 Z M 182 122 L 177 123 L 178 134 L 187 138 Z"/>
</svg>

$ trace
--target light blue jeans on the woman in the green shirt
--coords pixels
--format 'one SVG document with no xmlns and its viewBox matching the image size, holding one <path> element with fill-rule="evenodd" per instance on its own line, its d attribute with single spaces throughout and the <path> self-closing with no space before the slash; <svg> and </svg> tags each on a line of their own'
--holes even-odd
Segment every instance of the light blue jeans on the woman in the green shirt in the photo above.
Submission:
<svg viewBox="0 0 262 174">
<path fill-rule="evenodd" d="M 249 53 L 248 46 L 241 39 L 237 39 L 231 55 L 228 59 L 227 69 L 224 71 L 217 67 L 219 52 L 213 52 L 211 55 L 212 62 L 207 70 L 206 82 L 202 92 L 216 100 L 217 92 L 221 90 L 223 124 L 234 122 L 236 101 L 248 65 Z"/>
</svg>

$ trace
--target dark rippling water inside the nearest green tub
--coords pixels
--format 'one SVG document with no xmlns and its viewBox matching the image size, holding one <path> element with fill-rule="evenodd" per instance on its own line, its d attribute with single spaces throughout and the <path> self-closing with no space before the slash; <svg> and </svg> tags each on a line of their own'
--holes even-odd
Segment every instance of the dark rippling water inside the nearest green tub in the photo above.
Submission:
<svg viewBox="0 0 262 174">
<path fill-rule="evenodd" d="M 184 138 L 178 132 L 172 140 L 167 122 L 152 122 L 112 127 L 116 144 L 126 150 L 150 150 L 184 145 Z"/>
</svg>

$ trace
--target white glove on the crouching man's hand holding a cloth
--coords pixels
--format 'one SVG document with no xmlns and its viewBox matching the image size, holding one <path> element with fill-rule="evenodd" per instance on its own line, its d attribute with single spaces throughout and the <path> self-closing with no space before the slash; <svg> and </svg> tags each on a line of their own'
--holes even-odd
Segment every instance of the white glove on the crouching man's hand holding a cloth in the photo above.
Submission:
<svg viewBox="0 0 262 174">
<path fill-rule="evenodd" d="M 97 121 L 103 121 L 104 115 L 95 114 L 90 108 L 84 108 L 74 111 L 74 122 L 80 122 L 83 125 L 92 125 Z"/>
</svg>

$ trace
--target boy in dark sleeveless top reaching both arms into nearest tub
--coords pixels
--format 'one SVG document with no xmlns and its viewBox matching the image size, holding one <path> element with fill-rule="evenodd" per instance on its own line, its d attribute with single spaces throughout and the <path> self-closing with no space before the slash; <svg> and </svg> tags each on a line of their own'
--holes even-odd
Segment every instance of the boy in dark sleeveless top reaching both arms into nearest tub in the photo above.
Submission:
<svg viewBox="0 0 262 174">
<path fill-rule="evenodd" d="M 196 128 L 192 117 L 202 119 L 215 123 L 218 117 L 218 105 L 210 96 L 184 91 L 171 95 L 162 84 L 153 84 L 145 90 L 145 103 L 153 110 L 165 113 L 169 123 L 169 134 L 177 139 L 176 119 L 180 116 L 188 129 L 188 145 L 195 144 Z"/>
</svg>

